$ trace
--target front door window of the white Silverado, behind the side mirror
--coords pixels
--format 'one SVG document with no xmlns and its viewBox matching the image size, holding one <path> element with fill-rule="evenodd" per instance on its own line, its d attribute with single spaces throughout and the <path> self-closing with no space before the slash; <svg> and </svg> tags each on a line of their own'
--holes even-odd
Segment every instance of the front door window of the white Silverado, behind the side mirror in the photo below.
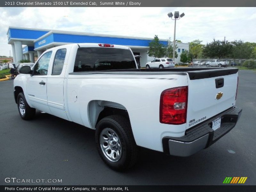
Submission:
<svg viewBox="0 0 256 192">
<path fill-rule="evenodd" d="M 44 55 L 36 62 L 34 75 L 47 75 L 51 56 L 52 51 L 44 53 Z"/>
</svg>

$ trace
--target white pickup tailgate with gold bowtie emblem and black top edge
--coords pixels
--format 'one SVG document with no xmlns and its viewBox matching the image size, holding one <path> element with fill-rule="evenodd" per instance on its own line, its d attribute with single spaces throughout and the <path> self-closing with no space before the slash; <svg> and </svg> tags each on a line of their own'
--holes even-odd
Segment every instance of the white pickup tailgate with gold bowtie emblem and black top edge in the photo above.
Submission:
<svg viewBox="0 0 256 192">
<path fill-rule="evenodd" d="M 235 105 L 236 68 L 188 73 L 187 125 L 189 129 Z"/>
</svg>

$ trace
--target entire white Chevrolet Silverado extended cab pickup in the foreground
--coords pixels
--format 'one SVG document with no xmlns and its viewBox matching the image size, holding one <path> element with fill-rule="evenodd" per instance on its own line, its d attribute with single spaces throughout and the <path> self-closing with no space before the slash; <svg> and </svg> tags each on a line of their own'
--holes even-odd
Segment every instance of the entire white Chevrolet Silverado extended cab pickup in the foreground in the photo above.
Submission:
<svg viewBox="0 0 256 192">
<path fill-rule="evenodd" d="M 46 50 L 14 80 L 21 118 L 36 109 L 95 129 L 102 160 L 131 167 L 138 146 L 190 156 L 229 132 L 237 68 L 138 69 L 130 48 L 68 44 Z"/>
</svg>

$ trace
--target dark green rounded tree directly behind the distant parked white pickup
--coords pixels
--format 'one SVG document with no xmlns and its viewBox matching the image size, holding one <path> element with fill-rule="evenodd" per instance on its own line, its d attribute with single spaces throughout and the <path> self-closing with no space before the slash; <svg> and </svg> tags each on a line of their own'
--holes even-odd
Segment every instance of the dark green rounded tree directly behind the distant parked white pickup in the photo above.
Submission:
<svg viewBox="0 0 256 192">
<path fill-rule="evenodd" d="M 227 58 L 230 57 L 232 53 L 232 44 L 228 41 L 215 40 L 211 43 L 207 43 L 203 49 L 203 54 L 205 57 L 209 58 Z"/>
</svg>

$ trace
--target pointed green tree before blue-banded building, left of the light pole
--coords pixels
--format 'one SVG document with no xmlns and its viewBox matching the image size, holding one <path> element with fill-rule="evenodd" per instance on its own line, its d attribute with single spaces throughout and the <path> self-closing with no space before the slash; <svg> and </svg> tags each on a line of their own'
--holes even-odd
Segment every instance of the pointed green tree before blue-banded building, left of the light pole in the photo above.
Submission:
<svg viewBox="0 0 256 192">
<path fill-rule="evenodd" d="M 155 35 L 154 39 L 149 43 L 148 56 L 161 58 L 164 57 L 166 48 L 160 43 L 159 38 Z"/>
</svg>

